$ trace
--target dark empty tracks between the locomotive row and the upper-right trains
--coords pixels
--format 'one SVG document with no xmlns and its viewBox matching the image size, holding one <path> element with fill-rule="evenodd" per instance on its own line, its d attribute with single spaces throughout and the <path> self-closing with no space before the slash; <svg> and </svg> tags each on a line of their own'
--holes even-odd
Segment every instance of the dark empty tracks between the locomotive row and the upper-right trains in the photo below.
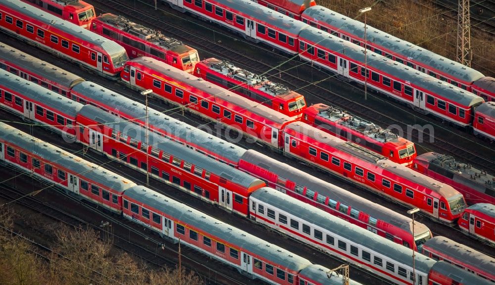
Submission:
<svg viewBox="0 0 495 285">
<path fill-rule="evenodd" d="M 302 76 L 299 76 L 299 71 L 307 72 L 309 69 L 309 72 L 313 75 L 313 68 L 309 66 L 309 63 L 301 63 L 299 61 L 288 59 L 287 56 L 285 56 L 282 57 L 282 59 L 288 60 L 289 62 L 284 66 L 289 66 L 289 64 L 292 65 L 286 67 L 286 70 L 274 69 L 271 65 L 264 63 L 262 60 L 252 58 L 242 51 L 238 51 L 234 48 L 229 47 L 229 45 L 219 44 L 218 41 L 216 41 L 217 39 L 211 40 L 210 38 L 204 37 L 203 35 L 198 35 L 197 31 L 195 31 L 191 27 L 185 27 L 184 25 L 178 25 L 177 23 L 174 23 L 173 16 L 158 17 L 154 15 L 154 13 L 150 13 L 149 9 L 154 8 L 149 3 L 138 1 L 139 4 L 134 5 L 131 4 L 132 1 L 130 0 L 90 0 L 90 2 L 95 4 L 95 7 L 97 9 L 101 9 L 101 6 L 103 5 L 108 8 L 110 12 L 124 15 L 134 21 L 141 22 L 148 27 L 152 27 L 158 31 L 161 31 L 165 35 L 170 35 L 172 37 L 185 41 L 197 48 L 201 54 L 205 52 L 210 53 L 216 57 L 235 62 L 237 65 L 255 71 L 258 74 L 265 74 L 270 79 L 274 81 L 280 81 L 291 89 L 305 95 L 307 97 L 307 100 L 309 99 L 309 102 L 311 102 L 311 98 L 313 98 L 313 101 L 311 103 L 324 101 L 334 106 L 338 106 L 346 110 L 351 110 L 353 114 L 372 122 L 378 123 L 383 127 L 396 126 L 396 128 L 406 131 L 406 138 L 416 142 L 419 146 L 418 149 L 423 152 L 437 151 L 453 155 L 461 161 L 476 165 L 484 170 L 495 173 L 495 152 L 493 151 L 493 149 L 490 148 L 490 146 L 487 146 L 486 143 L 481 142 L 474 136 L 464 136 L 458 134 L 452 135 L 453 133 L 459 133 L 459 131 L 441 122 L 432 124 L 431 117 L 418 113 L 410 114 L 413 112 L 412 110 L 407 113 L 401 111 L 401 113 L 392 116 L 388 113 L 381 112 L 373 107 L 367 107 L 364 102 L 357 103 L 352 98 L 347 98 L 347 96 L 345 95 L 339 95 L 335 92 L 329 91 L 329 83 L 327 82 L 327 80 L 331 79 L 334 76 L 328 74 L 326 71 L 314 71 L 314 80 L 312 81 L 301 79 Z M 132 3 L 135 3 L 135 1 Z M 163 5 L 159 5 L 159 8 L 163 8 Z M 169 12 L 167 11 L 167 13 Z M 165 22 L 163 20 L 165 20 Z M 222 32 L 217 34 L 220 36 Z M 237 39 L 234 39 L 234 41 L 237 41 Z M 268 53 L 272 52 L 271 48 L 261 47 L 259 45 L 256 47 L 264 49 L 264 51 Z M 331 84 L 333 84 L 333 82 L 331 82 Z M 345 88 L 343 90 L 343 93 L 347 94 L 347 91 L 350 91 L 349 86 L 344 87 Z M 355 91 L 352 90 L 351 92 Z M 379 101 L 378 103 L 381 102 L 383 105 L 385 105 L 385 108 L 391 106 L 389 105 L 390 103 L 383 97 L 377 97 L 376 100 Z M 397 106 L 399 104 L 394 105 Z M 403 109 L 403 106 L 399 108 Z M 397 117 L 404 116 L 407 116 L 408 118 L 411 116 L 412 117 L 407 121 L 397 120 Z M 425 126 L 432 126 L 435 133 L 430 134 L 430 131 L 422 132 L 421 130 Z M 445 129 L 448 129 L 448 131 L 445 131 Z M 441 133 L 441 136 L 439 136 L 439 131 Z M 454 136 L 455 139 L 452 139 L 451 137 L 447 139 L 446 136 Z M 479 143 L 480 147 L 477 149 L 461 147 L 458 145 L 459 141 L 464 141 L 464 145 L 468 146 Z"/>
</svg>

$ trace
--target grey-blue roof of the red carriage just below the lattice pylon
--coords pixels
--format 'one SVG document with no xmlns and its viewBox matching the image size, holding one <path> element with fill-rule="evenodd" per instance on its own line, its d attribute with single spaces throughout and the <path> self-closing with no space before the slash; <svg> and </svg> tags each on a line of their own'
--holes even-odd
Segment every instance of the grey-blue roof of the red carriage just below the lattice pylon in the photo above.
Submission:
<svg viewBox="0 0 495 285">
<path fill-rule="evenodd" d="M 318 22 L 324 22 L 338 28 L 338 32 L 344 32 L 364 39 L 364 23 L 339 14 L 326 7 L 312 6 L 307 8 L 303 14 L 315 18 Z M 426 48 L 401 40 L 369 25 L 366 25 L 366 30 L 368 42 L 376 43 L 381 47 L 388 48 L 392 53 L 412 58 L 412 60 L 419 62 L 423 66 L 431 66 L 466 82 L 474 82 L 484 77 L 481 72 L 473 68 L 462 65 Z"/>
</svg>

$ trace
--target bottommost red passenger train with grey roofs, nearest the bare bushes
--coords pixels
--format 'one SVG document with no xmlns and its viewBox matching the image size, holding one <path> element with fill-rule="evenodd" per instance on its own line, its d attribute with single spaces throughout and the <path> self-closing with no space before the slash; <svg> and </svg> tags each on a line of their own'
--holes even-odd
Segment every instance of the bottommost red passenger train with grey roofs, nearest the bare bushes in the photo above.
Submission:
<svg viewBox="0 0 495 285">
<path fill-rule="evenodd" d="M 123 218 L 145 226 L 165 239 L 180 241 L 252 279 L 274 285 L 342 284 L 342 276 L 327 276 L 330 270 L 323 266 L 313 265 L 282 247 L 138 186 L 1 122 L 0 162 L 31 173 L 80 199 L 122 214 Z M 299 281 L 301 272 L 302 280 Z M 350 280 L 349 285 L 360 284 Z"/>
</svg>

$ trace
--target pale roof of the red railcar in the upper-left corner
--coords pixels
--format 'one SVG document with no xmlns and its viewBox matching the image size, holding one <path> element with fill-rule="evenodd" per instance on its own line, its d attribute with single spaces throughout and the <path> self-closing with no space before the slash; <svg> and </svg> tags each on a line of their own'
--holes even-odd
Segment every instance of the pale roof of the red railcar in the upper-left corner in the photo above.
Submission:
<svg viewBox="0 0 495 285">
<path fill-rule="evenodd" d="M 5 5 L 11 9 L 19 11 L 20 13 L 34 18 L 38 21 L 43 22 L 47 27 L 47 30 L 50 30 L 49 27 L 55 27 L 56 29 L 65 32 L 67 34 L 73 35 L 79 40 L 90 42 L 95 46 L 99 46 L 104 49 L 110 56 L 117 55 L 125 52 L 124 47 L 115 43 L 114 41 L 110 41 L 102 36 L 99 36 L 96 33 L 93 33 L 89 30 L 86 30 L 78 25 L 72 24 L 68 21 L 60 19 L 54 15 L 49 14 L 48 12 L 44 12 L 34 6 L 23 3 L 19 0 L 2 0 L 2 5 Z"/>
</svg>

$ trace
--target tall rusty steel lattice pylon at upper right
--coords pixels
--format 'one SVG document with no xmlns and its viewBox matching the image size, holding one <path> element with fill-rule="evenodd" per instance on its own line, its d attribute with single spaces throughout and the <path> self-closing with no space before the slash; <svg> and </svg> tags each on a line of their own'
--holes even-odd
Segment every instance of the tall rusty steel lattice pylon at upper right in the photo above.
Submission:
<svg viewBox="0 0 495 285">
<path fill-rule="evenodd" d="M 469 0 L 459 0 L 457 13 L 457 61 L 471 67 L 471 22 Z"/>
</svg>

